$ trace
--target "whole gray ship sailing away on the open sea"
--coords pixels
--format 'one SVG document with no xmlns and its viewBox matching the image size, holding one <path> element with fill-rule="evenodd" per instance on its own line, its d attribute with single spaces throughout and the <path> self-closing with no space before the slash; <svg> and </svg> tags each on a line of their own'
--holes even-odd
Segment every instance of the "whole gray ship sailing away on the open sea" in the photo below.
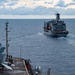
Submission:
<svg viewBox="0 0 75 75">
<path fill-rule="evenodd" d="M 60 14 L 56 14 L 56 19 L 44 22 L 44 33 L 53 37 L 66 37 L 69 33 L 66 30 L 66 23 L 60 19 Z"/>
</svg>

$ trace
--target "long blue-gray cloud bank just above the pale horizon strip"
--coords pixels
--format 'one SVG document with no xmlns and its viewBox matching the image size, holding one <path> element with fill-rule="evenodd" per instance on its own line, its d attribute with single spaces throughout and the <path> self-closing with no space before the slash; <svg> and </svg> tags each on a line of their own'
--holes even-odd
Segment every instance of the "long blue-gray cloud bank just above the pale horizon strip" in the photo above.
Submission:
<svg viewBox="0 0 75 75">
<path fill-rule="evenodd" d="M 63 11 L 63 12 L 62 12 Z M 30 8 L 17 8 L 17 9 L 0 9 L 0 14 L 11 14 L 11 15 L 54 15 L 55 13 L 61 13 L 62 15 L 74 15 L 75 10 L 68 9 L 56 9 L 56 8 L 45 8 L 45 7 L 37 7 L 35 9 Z"/>
</svg>

